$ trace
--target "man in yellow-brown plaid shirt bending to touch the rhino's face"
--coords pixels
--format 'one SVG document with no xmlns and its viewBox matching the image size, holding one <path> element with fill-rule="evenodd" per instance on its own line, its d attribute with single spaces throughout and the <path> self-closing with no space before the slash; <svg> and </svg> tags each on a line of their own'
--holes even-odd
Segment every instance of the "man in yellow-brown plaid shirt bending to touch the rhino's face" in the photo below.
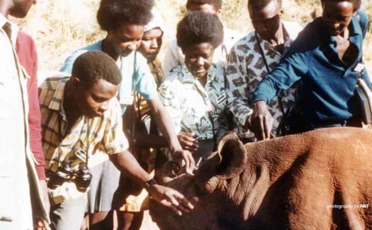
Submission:
<svg viewBox="0 0 372 230">
<path fill-rule="evenodd" d="M 63 175 L 56 171 L 64 172 L 61 166 L 65 167 L 66 163 L 72 170 L 88 165 L 89 156 L 96 148 L 106 152 L 120 171 L 146 187 L 158 202 L 178 214 L 179 208 L 186 210 L 180 203 L 192 208 L 177 191 L 157 185 L 127 150 L 120 104 L 114 97 L 120 82 L 120 70 L 108 54 L 88 51 L 77 57 L 71 77 L 49 78 L 39 88 L 54 229 L 79 229 L 87 205 L 87 193 L 79 183 L 65 178 L 56 180 L 56 175 Z"/>
</svg>

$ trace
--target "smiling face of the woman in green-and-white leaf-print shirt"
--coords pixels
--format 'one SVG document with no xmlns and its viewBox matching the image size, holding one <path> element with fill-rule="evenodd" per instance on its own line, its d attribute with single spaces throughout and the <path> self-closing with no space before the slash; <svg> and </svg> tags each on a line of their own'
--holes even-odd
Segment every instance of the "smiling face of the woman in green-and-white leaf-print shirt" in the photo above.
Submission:
<svg viewBox="0 0 372 230">
<path fill-rule="evenodd" d="M 191 45 L 182 50 L 184 62 L 194 78 L 206 77 L 206 73 L 212 65 L 214 48 L 210 43 Z"/>
</svg>

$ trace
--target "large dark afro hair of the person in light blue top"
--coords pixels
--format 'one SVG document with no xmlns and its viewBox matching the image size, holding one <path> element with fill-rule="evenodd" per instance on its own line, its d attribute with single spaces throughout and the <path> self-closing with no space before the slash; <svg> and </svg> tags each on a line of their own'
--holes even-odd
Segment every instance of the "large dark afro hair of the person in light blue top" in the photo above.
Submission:
<svg viewBox="0 0 372 230">
<path fill-rule="evenodd" d="M 99 26 L 106 31 L 123 24 L 147 25 L 151 18 L 154 0 L 101 0 L 97 12 Z"/>
</svg>

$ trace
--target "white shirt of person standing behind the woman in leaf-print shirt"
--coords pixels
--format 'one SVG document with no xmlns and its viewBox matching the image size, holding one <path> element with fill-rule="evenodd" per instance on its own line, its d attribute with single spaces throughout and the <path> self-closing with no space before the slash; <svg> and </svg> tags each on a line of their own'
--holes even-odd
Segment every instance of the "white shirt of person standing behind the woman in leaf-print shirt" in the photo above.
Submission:
<svg viewBox="0 0 372 230">
<path fill-rule="evenodd" d="M 228 55 L 231 47 L 239 41 L 244 35 L 238 31 L 223 28 L 223 42 L 220 46 L 216 47 L 213 54 L 213 63 L 220 63 L 228 61 Z M 166 56 L 163 61 L 163 71 L 166 75 L 174 67 L 182 65 L 184 63 L 184 55 L 179 46 L 177 46 L 177 40 L 173 40 L 168 47 Z"/>
</svg>

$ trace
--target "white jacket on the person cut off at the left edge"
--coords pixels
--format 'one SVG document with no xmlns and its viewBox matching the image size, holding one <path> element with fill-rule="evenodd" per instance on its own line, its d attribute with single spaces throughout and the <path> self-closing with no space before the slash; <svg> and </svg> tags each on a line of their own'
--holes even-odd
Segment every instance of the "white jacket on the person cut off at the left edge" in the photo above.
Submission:
<svg viewBox="0 0 372 230">
<path fill-rule="evenodd" d="M 17 32 L 0 13 L 1 229 L 32 229 L 30 190 L 40 191 L 29 146 L 27 74 L 14 50 Z M 44 207 L 39 201 L 35 198 L 35 204 Z"/>
</svg>

